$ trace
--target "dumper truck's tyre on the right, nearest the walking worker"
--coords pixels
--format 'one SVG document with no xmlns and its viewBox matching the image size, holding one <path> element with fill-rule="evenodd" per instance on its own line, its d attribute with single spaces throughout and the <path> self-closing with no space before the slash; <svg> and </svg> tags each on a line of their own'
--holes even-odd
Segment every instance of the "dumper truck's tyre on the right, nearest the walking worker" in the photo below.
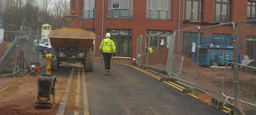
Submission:
<svg viewBox="0 0 256 115">
<path fill-rule="evenodd" d="M 89 72 L 93 71 L 93 51 L 92 50 L 85 51 L 84 69 L 85 71 L 89 71 Z"/>
</svg>

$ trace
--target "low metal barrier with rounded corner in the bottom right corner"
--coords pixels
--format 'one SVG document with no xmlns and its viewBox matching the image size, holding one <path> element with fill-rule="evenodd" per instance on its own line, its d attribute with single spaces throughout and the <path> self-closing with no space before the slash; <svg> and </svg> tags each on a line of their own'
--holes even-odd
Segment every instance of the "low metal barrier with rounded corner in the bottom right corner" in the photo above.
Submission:
<svg viewBox="0 0 256 115">
<path fill-rule="evenodd" d="M 228 66 L 230 66 L 228 68 Z M 238 64 L 238 79 L 234 78 L 234 62 L 229 62 L 224 70 L 221 93 L 226 97 L 225 102 L 233 105 L 245 113 L 255 113 L 256 109 L 256 67 Z M 237 83 L 237 89 L 236 88 Z M 247 114 L 246 114 L 247 115 Z"/>
</svg>

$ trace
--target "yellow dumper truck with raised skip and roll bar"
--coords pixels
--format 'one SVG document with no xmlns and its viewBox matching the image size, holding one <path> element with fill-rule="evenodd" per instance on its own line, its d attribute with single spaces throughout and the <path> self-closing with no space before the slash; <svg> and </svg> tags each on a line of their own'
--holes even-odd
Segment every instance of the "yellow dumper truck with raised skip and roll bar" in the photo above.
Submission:
<svg viewBox="0 0 256 115">
<path fill-rule="evenodd" d="M 62 28 L 65 17 L 80 18 L 83 22 L 84 30 L 80 28 Z M 49 38 L 52 45 L 50 54 L 57 56 L 52 60 L 51 70 L 56 71 L 61 62 L 76 63 L 81 62 L 85 71 L 93 71 L 94 53 L 90 48 L 95 39 L 94 33 L 85 30 L 84 20 L 80 16 L 64 16 L 60 23 L 60 28 L 50 31 Z"/>
</svg>

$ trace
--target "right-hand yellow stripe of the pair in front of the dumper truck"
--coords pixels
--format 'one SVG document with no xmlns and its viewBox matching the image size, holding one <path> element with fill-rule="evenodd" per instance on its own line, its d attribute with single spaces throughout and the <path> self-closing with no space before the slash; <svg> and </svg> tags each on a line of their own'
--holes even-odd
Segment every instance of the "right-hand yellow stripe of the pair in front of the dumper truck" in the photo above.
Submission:
<svg viewBox="0 0 256 115">
<path fill-rule="evenodd" d="M 83 78 L 83 92 L 84 92 L 84 115 L 89 115 L 89 104 L 88 104 L 88 98 L 87 98 L 84 68 L 82 69 L 82 78 Z"/>
</svg>

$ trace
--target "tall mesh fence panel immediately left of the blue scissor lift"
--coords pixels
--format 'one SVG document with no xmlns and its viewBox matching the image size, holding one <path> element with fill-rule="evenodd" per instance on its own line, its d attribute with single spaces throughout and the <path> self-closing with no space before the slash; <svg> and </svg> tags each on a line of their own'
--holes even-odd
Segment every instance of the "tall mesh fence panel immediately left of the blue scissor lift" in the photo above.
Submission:
<svg viewBox="0 0 256 115">
<path fill-rule="evenodd" d="M 181 81 L 184 81 L 192 86 L 196 85 L 196 63 L 192 61 L 192 55 L 195 54 L 195 50 L 192 51 L 191 40 L 196 39 L 196 37 L 193 35 L 198 35 L 199 28 L 199 26 L 194 26 L 191 28 L 173 31 L 171 37 L 171 44 L 173 44 L 173 48 L 170 46 L 170 50 L 172 51 L 169 51 L 168 58 L 168 62 L 172 62 L 172 66 L 171 69 L 169 67 L 166 69 L 170 77 L 176 78 L 179 76 Z M 177 61 L 176 59 L 178 56 L 182 56 L 182 59 L 178 59 L 180 61 Z M 175 72 L 177 70 L 178 72 Z M 176 74 L 174 73 L 179 73 L 180 75 L 175 76 Z"/>
</svg>

